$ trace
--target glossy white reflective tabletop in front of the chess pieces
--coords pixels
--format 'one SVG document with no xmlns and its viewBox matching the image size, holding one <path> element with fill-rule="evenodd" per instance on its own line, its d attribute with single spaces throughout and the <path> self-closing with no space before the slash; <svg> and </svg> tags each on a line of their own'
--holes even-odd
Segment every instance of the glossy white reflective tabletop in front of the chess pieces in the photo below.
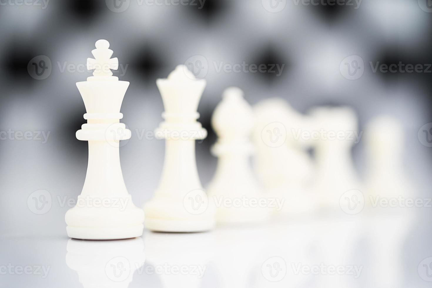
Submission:
<svg viewBox="0 0 432 288">
<path fill-rule="evenodd" d="M 393 217 L 341 212 L 204 233 L 146 231 L 119 241 L 2 237 L 0 245 L 7 249 L 1 253 L 1 271 L 8 263 L 13 268 L 0 278 L 35 288 L 360 288 L 378 287 L 375 283 L 388 277 L 397 285 L 380 287 L 409 287 L 407 279 L 425 284 L 417 272 L 420 260 L 406 261 L 406 269 L 394 273 L 403 262 L 399 243 L 408 240 L 403 234 L 409 231 L 398 223 Z M 386 244 L 379 253 L 372 249 L 377 240 Z M 19 274 L 15 268 L 20 266 L 41 266 L 41 274 L 33 268 L 32 274 Z M 341 275 L 332 267 L 339 267 Z"/>
</svg>

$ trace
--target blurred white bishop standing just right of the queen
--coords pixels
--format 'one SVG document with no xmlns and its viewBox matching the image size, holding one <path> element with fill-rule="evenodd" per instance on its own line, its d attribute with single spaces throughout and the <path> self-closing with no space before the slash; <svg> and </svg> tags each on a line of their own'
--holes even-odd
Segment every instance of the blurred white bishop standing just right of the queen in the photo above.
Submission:
<svg viewBox="0 0 432 288">
<path fill-rule="evenodd" d="M 254 151 L 249 139 L 254 114 L 241 89 L 230 87 L 223 92 L 222 101 L 213 112 L 212 125 L 219 136 L 212 153 L 219 160 L 207 192 L 216 205 L 216 221 L 232 224 L 267 220 L 271 210 L 259 205 L 264 195 L 248 161 Z"/>
</svg>

